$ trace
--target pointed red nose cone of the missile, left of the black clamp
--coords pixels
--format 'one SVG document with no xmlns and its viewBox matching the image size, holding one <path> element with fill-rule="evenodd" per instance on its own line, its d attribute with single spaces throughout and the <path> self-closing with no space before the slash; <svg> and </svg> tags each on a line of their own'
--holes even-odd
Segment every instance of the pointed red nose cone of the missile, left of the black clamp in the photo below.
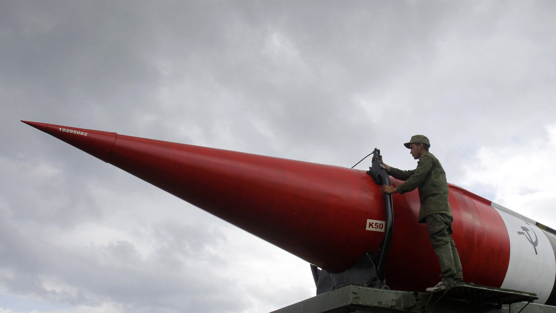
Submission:
<svg viewBox="0 0 556 313">
<path fill-rule="evenodd" d="M 25 123 L 329 272 L 348 269 L 384 238 L 368 229 L 368 220 L 384 221 L 384 200 L 364 171 Z"/>
</svg>

